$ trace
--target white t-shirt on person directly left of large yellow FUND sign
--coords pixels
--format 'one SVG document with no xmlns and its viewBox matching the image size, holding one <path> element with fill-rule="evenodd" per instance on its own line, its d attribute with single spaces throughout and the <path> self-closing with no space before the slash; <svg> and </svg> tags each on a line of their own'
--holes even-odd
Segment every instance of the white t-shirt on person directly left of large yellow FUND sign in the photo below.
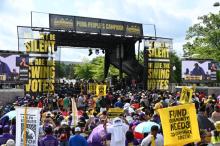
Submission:
<svg viewBox="0 0 220 146">
<path fill-rule="evenodd" d="M 151 143 L 151 137 L 153 135 L 149 134 L 147 137 L 145 137 L 143 139 L 143 141 L 141 142 L 141 146 L 149 146 L 149 144 Z M 161 134 L 157 134 L 156 139 L 155 139 L 155 144 L 156 146 L 163 146 L 163 136 Z"/>
</svg>

